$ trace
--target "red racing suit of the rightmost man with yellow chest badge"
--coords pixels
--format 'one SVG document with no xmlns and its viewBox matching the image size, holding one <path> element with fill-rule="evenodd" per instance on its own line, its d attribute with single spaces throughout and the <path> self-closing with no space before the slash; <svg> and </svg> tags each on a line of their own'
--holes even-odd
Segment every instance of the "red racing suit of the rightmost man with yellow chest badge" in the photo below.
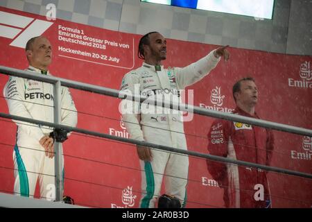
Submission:
<svg viewBox="0 0 312 222">
<path fill-rule="evenodd" d="M 251 116 L 236 107 L 233 112 Z M 274 148 L 272 130 L 250 124 L 217 119 L 208 133 L 211 155 L 269 165 Z M 224 189 L 225 207 L 271 207 L 266 171 L 207 160 L 211 176 Z"/>
</svg>

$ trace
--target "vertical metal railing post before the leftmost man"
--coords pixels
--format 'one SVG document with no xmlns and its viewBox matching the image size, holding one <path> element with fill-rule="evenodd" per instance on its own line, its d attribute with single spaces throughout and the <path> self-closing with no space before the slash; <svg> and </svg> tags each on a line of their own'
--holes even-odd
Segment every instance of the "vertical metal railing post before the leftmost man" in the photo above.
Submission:
<svg viewBox="0 0 312 222">
<path fill-rule="evenodd" d="M 54 85 L 54 123 L 61 124 L 61 83 L 58 80 Z M 62 144 L 54 143 L 54 169 L 55 169 L 55 200 L 61 201 L 63 197 L 63 178 L 62 178 Z"/>
</svg>

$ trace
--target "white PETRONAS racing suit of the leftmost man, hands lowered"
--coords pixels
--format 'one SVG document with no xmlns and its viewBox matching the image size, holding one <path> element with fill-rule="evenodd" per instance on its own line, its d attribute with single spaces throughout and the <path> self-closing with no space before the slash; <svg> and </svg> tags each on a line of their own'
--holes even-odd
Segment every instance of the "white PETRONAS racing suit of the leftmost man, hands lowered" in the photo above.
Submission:
<svg viewBox="0 0 312 222">
<path fill-rule="evenodd" d="M 34 67 L 28 67 L 27 70 L 40 73 L 40 69 Z M 53 123 L 53 85 L 10 76 L 3 94 L 10 114 Z M 67 87 L 61 88 L 61 108 L 62 124 L 75 127 L 77 110 Z M 17 123 L 17 140 L 13 152 L 15 194 L 33 197 L 39 178 L 40 198 L 55 200 L 55 159 L 46 157 L 44 147 L 39 144 L 40 139 L 44 135 L 49 135 L 53 129 L 22 121 L 15 123 Z M 64 177 L 64 165 L 62 168 Z"/>
</svg>

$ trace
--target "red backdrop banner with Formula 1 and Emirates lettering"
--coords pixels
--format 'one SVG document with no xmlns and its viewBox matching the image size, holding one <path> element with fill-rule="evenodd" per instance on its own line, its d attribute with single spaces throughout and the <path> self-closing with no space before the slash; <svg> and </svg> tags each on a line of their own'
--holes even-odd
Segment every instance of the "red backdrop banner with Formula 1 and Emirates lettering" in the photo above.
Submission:
<svg viewBox="0 0 312 222">
<path fill-rule="evenodd" d="M 67 78 L 119 89 L 123 76 L 143 62 L 137 58 L 140 35 L 109 31 L 0 7 L 0 65 L 28 67 L 24 47 L 44 35 L 53 48 L 49 71 Z M 165 67 L 184 67 L 216 49 L 215 45 L 167 40 Z M 262 119 L 302 128 L 312 127 L 312 57 L 289 56 L 229 47 L 231 58 L 221 60 L 193 89 L 193 103 L 201 108 L 231 112 L 232 86 L 252 76 L 259 90 L 256 111 Z M 3 90 L 8 76 L 0 75 Z M 78 110 L 78 128 L 128 137 L 119 113 L 119 99 L 71 89 Z M 8 113 L 1 94 L 0 112 Z M 184 123 L 190 151 L 208 153 L 207 133 L 214 118 L 194 115 Z M 0 191 L 12 193 L 12 152 L 17 126 L 0 119 Z M 312 138 L 277 130 L 272 166 L 312 173 Z M 141 169 L 135 146 L 72 133 L 64 147 L 64 195 L 78 205 L 139 207 Z M 223 207 L 223 189 L 207 171 L 206 161 L 190 157 L 187 207 Z M 36 172 L 38 173 L 38 172 Z M 306 178 L 268 173 L 272 207 L 311 207 L 312 182 Z M 164 187 L 162 188 L 164 192 Z M 38 185 L 35 198 L 40 198 Z"/>
</svg>

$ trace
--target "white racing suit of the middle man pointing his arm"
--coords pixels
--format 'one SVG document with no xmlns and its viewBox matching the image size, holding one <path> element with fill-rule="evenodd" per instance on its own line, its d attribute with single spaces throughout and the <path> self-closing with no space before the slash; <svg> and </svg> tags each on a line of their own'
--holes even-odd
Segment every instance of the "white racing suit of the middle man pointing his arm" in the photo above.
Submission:
<svg viewBox="0 0 312 222">
<path fill-rule="evenodd" d="M 154 66 L 143 63 L 142 67 L 125 74 L 121 90 L 154 99 L 170 98 L 171 101 L 177 102 L 180 101 L 180 89 L 198 82 L 209 74 L 219 60 L 220 58 L 214 56 L 214 51 L 211 51 L 204 58 L 184 68 L 164 69 L 161 66 L 157 68 L 160 71 L 156 71 Z M 129 111 L 129 107 L 134 108 L 137 112 L 125 111 Z M 148 106 L 127 99 L 121 102 L 119 108 L 131 139 L 187 150 L 180 111 L 168 110 L 168 108 L 159 106 L 155 108 L 154 105 Z M 150 151 L 152 161 L 140 160 L 142 169 L 140 207 L 155 207 L 163 175 L 166 176 L 166 194 L 180 199 L 184 207 L 187 200 L 189 157 L 153 148 Z"/>
</svg>

